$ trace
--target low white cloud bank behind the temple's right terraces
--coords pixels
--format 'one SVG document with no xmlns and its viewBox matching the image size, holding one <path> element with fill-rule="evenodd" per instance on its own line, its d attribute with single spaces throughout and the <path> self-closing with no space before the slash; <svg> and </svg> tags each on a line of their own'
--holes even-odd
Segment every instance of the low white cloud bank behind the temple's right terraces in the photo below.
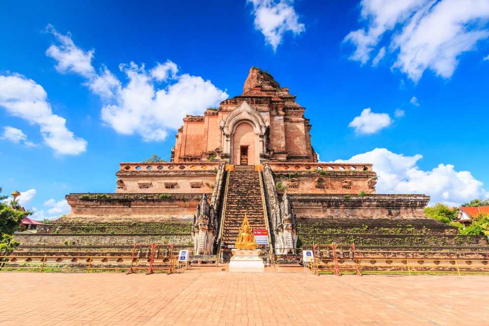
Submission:
<svg viewBox="0 0 489 326">
<path fill-rule="evenodd" d="M 431 204 L 443 202 L 452 206 L 489 196 L 482 182 L 469 171 L 456 171 L 450 164 L 439 164 L 428 171 L 421 170 L 417 162 L 422 157 L 420 154 L 404 156 L 385 148 L 375 148 L 338 161 L 371 162 L 378 175 L 378 194 L 427 194 L 431 197 Z"/>
</svg>

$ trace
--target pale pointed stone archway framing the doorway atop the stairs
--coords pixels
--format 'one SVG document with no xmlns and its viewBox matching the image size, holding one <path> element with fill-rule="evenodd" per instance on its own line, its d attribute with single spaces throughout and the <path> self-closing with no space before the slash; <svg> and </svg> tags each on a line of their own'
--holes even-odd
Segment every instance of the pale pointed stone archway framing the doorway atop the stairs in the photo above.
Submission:
<svg viewBox="0 0 489 326">
<path fill-rule="evenodd" d="M 246 123 L 246 125 L 240 126 Z M 253 129 L 254 143 L 250 143 L 250 127 Z M 241 146 L 239 142 L 250 143 L 248 146 L 248 155 L 253 157 L 252 161 L 249 161 L 249 165 L 260 164 L 260 156 L 264 153 L 266 148 L 265 130 L 267 124 L 263 121 L 260 113 L 256 111 L 250 104 L 243 101 L 241 105 L 236 107 L 225 121 L 221 121 L 221 128 L 223 130 L 223 157 L 228 158 L 230 164 L 239 164 L 239 149 L 235 147 Z M 234 140 L 236 130 L 238 130 L 238 136 L 236 141 Z M 246 139 L 241 140 L 242 134 L 247 134 Z M 254 146 L 252 146 L 254 145 Z M 247 146 L 247 144 L 242 144 Z M 250 152 L 250 151 L 253 152 Z M 236 157 L 236 155 L 238 157 Z"/>
</svg>

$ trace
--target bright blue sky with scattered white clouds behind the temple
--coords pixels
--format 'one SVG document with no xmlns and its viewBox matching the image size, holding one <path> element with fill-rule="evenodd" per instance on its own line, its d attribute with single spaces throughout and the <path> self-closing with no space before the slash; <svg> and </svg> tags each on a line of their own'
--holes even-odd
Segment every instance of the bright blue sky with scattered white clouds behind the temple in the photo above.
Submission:
<svg viewBox="0 0 489 326">
<path fill-rule="evenodd" d="M 169 158 L 181 117 L 254 65 L 306 107 L 320 159 L 373 162 L 378 193 L 487 197 L 488 19 L 487 0 L 4 1 L 0 186 L 37 218 L 114 192 L 119 162 Z"/>
</svg>

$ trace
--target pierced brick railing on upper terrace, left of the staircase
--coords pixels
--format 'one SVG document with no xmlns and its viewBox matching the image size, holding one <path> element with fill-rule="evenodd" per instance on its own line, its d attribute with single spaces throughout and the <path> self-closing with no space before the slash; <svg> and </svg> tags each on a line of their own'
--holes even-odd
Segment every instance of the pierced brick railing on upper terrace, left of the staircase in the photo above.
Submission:
<svg viewBox="0 0 489 326">
<path fill-rule="evenodd" d="M 122 162 L 120 171 L 213 171 L 221 162 Z"/>
</svg>

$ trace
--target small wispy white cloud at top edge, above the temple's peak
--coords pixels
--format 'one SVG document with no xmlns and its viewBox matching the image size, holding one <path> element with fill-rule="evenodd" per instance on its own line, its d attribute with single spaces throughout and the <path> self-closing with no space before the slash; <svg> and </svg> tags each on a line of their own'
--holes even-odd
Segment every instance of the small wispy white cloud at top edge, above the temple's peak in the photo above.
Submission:
<svg viewBox="0 0 489 326">
<path fill-rule="evenodd" d="M 255 29 L 265 36 L 266 43 L 273 47 L 274 51 L 282 43 L 285 32 L 294 35 L 306 30 L 303 23 L 298 22 L 298 15 L 292 7 L 293 0 L 248 0 L 253 4 L 255 16 Z"/>
</svg>

